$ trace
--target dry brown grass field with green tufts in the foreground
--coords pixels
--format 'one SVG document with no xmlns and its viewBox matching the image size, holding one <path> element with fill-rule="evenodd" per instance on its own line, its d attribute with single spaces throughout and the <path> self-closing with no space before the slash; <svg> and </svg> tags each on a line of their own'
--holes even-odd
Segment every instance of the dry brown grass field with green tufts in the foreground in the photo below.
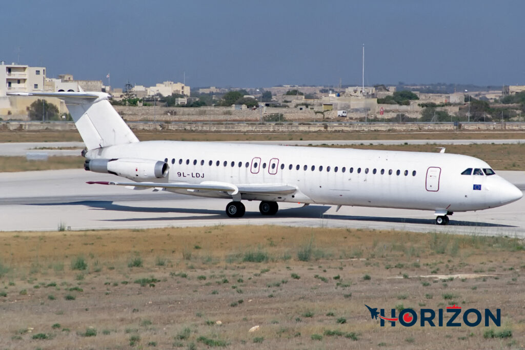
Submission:
<svg viewBox="0 0 525 350">
<path fill-rule="evenodd" d="M 515 239 L 214 226 L 2 232 L 0 245 L 0 345 L 6 348 L 525 344 L 524 247 Z M 142 267 L 130 263 L 137 259 Z M 478 277 L 419 277 L 458 273 Z M 487 328 L 465 325 L 380 327 L 365 303 L 500 308 L 503 326 L 496 331 L 510 330 L 512 337 L 487 339 Z M 255 325 L 259 330 L 249 333 Z M 37 334 L 49 339 L 33 340 Z"/>
</svg>

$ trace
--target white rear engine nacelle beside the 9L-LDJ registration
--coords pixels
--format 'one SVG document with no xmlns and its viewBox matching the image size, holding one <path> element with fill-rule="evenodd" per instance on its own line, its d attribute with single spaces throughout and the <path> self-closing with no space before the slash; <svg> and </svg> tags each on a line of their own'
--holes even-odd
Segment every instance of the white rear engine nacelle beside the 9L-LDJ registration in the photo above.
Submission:
<svg viewBox="0 0 525 350">
<path fill-rule="evenodd" d="M 135 181 L 153 180 L 167 176 L 166 162 L 149 159 L 92 159 L 84 162 L 84 168 L 96 173 L 109 173 Z"/>
</svg>

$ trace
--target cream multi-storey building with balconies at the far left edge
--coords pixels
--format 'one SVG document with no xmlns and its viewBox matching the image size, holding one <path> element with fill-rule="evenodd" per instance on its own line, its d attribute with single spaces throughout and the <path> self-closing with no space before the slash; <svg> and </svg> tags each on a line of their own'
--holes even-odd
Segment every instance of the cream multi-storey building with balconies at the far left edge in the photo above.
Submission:
<svg viewBox="0 0 525 350">
<path fill-rule="evenodd" d="M 5 97 L 7 92 L 43 91 L 46 68 L 17 63 L 6 65 L 4 61 L 0 61 L 0 80 L 0 97 Z"/>
</svg>

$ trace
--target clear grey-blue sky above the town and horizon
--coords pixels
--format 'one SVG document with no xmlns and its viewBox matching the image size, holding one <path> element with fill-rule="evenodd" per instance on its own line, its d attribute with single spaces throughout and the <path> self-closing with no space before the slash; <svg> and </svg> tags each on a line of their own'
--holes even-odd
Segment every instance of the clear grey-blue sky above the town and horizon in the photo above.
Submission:
<svg viewBox="0 0 525 350">
<path fill-rule="evenodd" d="M 521 0 L 27 0 L 0 60 L 114 88 L 525 84 Z M 110 74 L 108 81 L 107 75 Z"/>
</svg>

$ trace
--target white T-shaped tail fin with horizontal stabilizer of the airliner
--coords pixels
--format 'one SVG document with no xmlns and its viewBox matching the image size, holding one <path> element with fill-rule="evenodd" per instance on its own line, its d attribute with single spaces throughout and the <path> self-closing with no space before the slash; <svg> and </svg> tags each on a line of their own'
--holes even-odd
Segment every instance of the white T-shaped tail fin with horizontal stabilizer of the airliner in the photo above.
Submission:
<svg viewBox="0 0 525 350">
<path fill-rule="evenodd" d="M 22 96 L 55 97 L 66 102 L 77 130 L 89 150 L 139 142 L 105 92 L 19 92 Z"/>
</svg>

